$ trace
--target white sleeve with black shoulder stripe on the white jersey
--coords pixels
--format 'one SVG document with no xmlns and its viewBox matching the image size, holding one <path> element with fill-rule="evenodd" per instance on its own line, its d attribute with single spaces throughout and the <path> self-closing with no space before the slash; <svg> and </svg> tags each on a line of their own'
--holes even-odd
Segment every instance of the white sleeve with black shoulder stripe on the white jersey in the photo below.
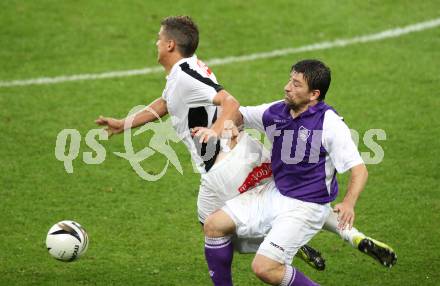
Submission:
<svg viewBox="0 0 440 286">
<path fill-rule="evenodd" d="M 213 105 L 214 97 L 223 89 L 212 79 L 203 77 L 197 72 L 183 73 L 177 80 L 179 93 L 189 108 Z"/>
</svg>

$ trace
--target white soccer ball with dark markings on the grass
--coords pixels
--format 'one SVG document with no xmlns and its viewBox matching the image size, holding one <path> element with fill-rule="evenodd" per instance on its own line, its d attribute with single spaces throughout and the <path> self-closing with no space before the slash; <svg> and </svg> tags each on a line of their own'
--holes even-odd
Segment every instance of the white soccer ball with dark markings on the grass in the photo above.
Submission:
<svg viewBox="0 0 440 286">
<path fill-rule="evenodd" d="M 46 246 L 50 255 L 56 259 L 73 261 L 86 252 L 89 237 L 79 223 L 63 220 L 49 229 Z"/>
</svg>

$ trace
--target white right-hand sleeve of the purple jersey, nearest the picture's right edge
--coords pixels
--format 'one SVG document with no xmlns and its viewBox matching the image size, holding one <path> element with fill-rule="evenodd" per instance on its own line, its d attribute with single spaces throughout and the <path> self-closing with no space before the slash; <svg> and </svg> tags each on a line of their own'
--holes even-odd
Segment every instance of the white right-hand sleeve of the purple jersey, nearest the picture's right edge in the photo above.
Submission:
<svg viewBox="0 0 440 286">
<path fill-rule="evenodd" d="M 323 147 L 338 173 L 344 173 L 352 167 L 363 164 L 363 160 L 351 139 L 350 129 L 334 111 L 328 110 L 324 115 L 322 131 Z"/>
</svg>

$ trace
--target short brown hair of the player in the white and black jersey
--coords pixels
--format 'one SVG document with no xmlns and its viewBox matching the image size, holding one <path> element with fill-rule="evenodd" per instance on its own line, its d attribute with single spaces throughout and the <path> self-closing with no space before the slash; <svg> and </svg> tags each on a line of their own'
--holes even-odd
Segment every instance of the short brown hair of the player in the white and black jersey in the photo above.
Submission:
<svg viewBox="0 0 440 286">
<path fill-rule="evenodd" d="M 167 36 L 176 41 L 177 49 L 185 57 L 191 57 L 199 45 L 199 29 L 189 16 L 170 16 L 160 22 Z"/>
</svg>

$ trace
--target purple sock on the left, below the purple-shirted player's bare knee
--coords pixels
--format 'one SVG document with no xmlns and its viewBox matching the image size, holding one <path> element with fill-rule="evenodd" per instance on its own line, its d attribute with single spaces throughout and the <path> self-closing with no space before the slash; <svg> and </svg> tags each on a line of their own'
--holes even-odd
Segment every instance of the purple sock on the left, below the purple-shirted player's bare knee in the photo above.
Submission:
<svg viewBox="0 0 440 286">
<path fill-rule="evenodd" d="M 205 258 L 215 286 L 232 285 L 231 264 L 234 249 L 231 237 L 205 237 Z"/>
</svg>

